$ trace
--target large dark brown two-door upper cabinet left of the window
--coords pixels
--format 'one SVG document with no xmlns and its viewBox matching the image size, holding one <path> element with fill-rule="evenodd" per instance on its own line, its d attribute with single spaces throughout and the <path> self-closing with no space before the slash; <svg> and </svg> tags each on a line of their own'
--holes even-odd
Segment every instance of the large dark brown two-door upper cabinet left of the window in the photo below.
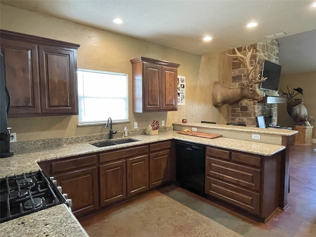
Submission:
<svg viewBox="0 0 316 237">
<path fill-rule="evenodd" d="M 78 115 L 79 44 L 0 30 L 8 118 Z"/>
</svg>

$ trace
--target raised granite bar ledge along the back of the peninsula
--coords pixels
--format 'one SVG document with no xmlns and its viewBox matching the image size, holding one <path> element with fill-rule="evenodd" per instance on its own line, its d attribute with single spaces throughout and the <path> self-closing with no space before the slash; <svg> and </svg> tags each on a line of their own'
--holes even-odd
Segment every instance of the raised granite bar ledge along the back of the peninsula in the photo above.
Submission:
<svg viewBox="0 0 316 237">
<path fill-rule="evenodd" d="M 288 130 L 288 129 L 243 127 L 243 126 L 209 124 L 209 123 L 198 123 L 198 122 L 191 122 L 191 123 L 175 122 L 175 123 L 172 123 L 172 125 L 194 126 L 194 127 L 212 128 L 212 129 L 219 129 L 219 130 L 239 131 L 239 132 L 256 132 L 256 133 L 280 135 L 280 136 L 292 136 L 298 133 L 298 131 L 296 130 Z"/>
</svg>

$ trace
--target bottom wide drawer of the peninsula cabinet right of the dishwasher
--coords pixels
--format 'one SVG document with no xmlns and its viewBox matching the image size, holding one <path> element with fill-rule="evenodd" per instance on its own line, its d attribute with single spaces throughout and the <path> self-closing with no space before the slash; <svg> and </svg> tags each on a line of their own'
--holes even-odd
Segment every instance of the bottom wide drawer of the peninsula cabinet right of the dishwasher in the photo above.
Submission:
<svg viewBox="0 0 316 237">
<path fill-rule="evenodd" d="M 259 214 L 260 195 L 258 193 L 249 192 L 233 184 L 210 177 L 205 179 L 205 193 L 232 203 L 244 210 Z"/>
</svg>

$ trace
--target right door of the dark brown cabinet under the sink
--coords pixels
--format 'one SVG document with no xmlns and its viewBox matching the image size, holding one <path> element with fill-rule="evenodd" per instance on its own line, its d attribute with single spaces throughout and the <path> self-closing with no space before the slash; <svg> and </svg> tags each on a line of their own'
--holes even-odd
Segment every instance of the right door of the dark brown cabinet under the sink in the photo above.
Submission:
<svg viewBox="0 0 316 237">
<path fill-rule="evenodd" d="M 126 160 L 127 197 L 149 189 L 148 155 Z"/>
</svg>

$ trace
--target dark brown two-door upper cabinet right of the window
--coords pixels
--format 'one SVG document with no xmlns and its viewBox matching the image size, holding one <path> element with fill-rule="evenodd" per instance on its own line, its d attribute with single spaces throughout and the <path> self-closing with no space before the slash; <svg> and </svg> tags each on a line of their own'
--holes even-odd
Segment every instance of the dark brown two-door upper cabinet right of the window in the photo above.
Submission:
<svg viewBox="0 0 316 237">
<path fill-rule="evenodd" d="M 177 111 L 179 64 L 151 58 L 132 63 L 133 112 Z"/>
</svg>

